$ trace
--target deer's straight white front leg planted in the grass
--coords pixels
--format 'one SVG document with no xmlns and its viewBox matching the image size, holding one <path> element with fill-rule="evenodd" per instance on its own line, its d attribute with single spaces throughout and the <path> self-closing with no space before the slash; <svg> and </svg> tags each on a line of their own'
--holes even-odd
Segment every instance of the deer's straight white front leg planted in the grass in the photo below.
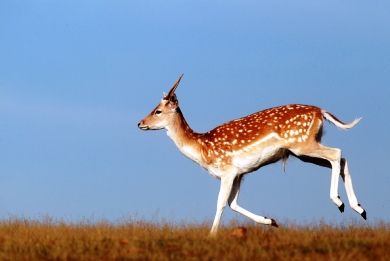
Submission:
<svg viewBox="0 0 390 261">
<path fill-rule="evenodd" d="M 215 218 L 213 226 L 211 227 L 210 236 L 215 236 L 217 234 L 218 225 L 221 221 L 222 212 L 226 207 L 226 203 L 230 196 L 233 181 L 235 176 L 226 175 L 221 178 L 221 187 L 219 189 L 218 201 L 217 201 L 217 212 L 215 213 Z"/>
</svg>

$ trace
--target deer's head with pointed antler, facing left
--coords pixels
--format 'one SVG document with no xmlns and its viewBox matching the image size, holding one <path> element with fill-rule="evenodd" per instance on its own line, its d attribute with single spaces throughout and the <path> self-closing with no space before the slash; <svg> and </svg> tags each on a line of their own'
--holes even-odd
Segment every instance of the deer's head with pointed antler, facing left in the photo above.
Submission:
<svg viewBox="0 0 390 261">
<path fill-rule="evenodd" d="M 138 123 L 138 127 L 141 130 L 160 130 L 172 122 L 179 108 L 175 90 L 179 86 L 181 77 L 183 77 L 183 74 L 177 79 L 168 94 L 164 93 L 164 98 L 160 101 L 160 104 L 145 119 Z"/>
</svg>

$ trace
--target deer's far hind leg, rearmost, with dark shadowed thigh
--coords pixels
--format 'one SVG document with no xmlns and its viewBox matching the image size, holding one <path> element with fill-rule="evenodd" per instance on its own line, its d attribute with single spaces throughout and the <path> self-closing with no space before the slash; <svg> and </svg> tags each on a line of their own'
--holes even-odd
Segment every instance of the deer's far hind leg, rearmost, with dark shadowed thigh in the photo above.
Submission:
<svg viewBox="0 0 390 261">
<path fill-rule="evenodd" d="M 313 164 L 316 164 L 316 165 L 322 166 L 322 167 L 332 168 L 331 163 L 326 159 L 313 158 L 313 157 L 309 157 L 309 156 L 305 156 L 305 155 L 296 156 L 296 157 L 298 157 L 300 160 L 302 160 L 304 162 L 313 163 Z M 351 208 L 353 210 L 355 210 L 357 213 L 359 213 L 364 219 L 366 219 L 367 218 L 366 211 L 358 203 L 355 192 L 353 190 L 352 177 L 351 177 L 351 174 L 349 173 L 348 162 L 345 158 L 341 158 L 341 160 L 340 160 L 340 176 L 344 181 L 345 190 L 346 190 L 347 197 L 348 197 L 348 202 L 349 202 Z M 344 209 L 342 209 L 342 210 L 344 210 Z"/>
</svg>

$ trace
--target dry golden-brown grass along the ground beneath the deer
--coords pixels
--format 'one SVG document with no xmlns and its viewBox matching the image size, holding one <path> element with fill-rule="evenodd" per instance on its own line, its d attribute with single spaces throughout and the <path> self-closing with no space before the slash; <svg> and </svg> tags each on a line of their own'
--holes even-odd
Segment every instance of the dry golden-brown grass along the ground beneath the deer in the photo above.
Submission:
<svg viewBox="0 0 390 261">
<path fill-rule="evenodd" d="M 390 260 L 390 223 L 210 224 L 0 221 L 0 260 Z"/>
</svg>

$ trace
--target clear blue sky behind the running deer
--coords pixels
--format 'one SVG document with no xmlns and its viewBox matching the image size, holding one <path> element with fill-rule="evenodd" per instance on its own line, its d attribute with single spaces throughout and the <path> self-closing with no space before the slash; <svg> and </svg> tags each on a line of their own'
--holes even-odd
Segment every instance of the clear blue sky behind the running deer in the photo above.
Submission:
<svg viewBox="0 0 390 261">
<path fill-rule="evenodd" d="M 289 103 L 326 123 L 370 221 L 389 220 L 388 1 L 0 1 L 0 216 L 211 221 L 219 180 L 164 130 L 176 94 L 195 131 Z M 239 203 L 283 224 L 359 221 L 329 169 L 290 159 L 245 177 Z M 225 209 L 223 222 L 239 218 Z M 210 223 L 211 225 L 211 223 Z"/>
</svg>

